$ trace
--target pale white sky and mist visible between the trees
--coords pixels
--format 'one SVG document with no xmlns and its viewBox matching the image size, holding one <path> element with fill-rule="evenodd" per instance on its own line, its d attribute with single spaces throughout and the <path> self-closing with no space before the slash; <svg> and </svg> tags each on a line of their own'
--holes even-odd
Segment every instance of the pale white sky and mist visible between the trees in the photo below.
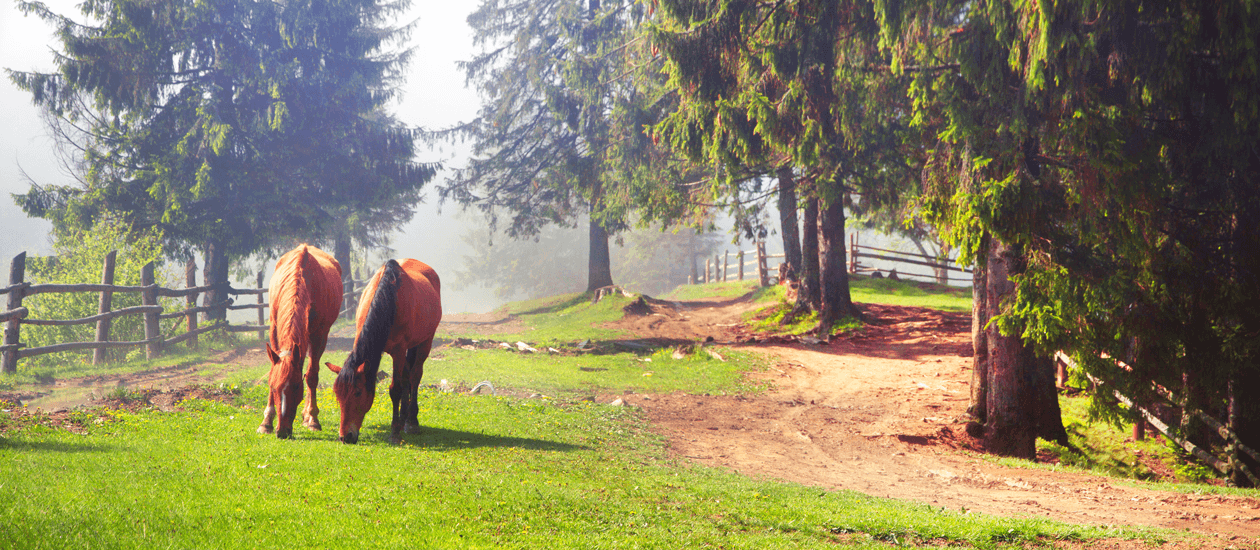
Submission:
<svg viewBox="0 0 1260 550">
<path fill-rule="evenodd" d="M 24 16 L 18 11 L 14 3 L 0 3 L 0 67 L 16 70 L 42 70 L 54 69 L 53 47 L 57 44 L 53 38 L 53 29 L 43 20 L 34 16 Z M 77 3 L 71 0 L 49 0 L 49 8 L 59 14 L 74 16 L 78 14 Z M 437 130 L 452 126 L 457 122 L 469 121 L 476 116 L 479 98 L 472 89 L 465 87 L 464 73 L 457 68 L 460 60 L 471 59 L 474 54 L 472 31 L 466 23 L 466 18 L 478 8 L 479 0 L 451 0 L 444 3 L 416 3 L 412 9 L 398 21 L 406 24 L 416 21 L 411 35 L 410 45 L 416 49 L 416 55 L 408 70 L 408 78 L 403 84 L 401 99 L 392 107 L 397 118 L 410 126 L 427 130 Z M 52 249 L 49 232 L 52 224 L 43 219 L 28 218 L 19 206 L 14 204 L 10 194 L 26 193 L 30 180 L 39 184 L 68 184 L 73 181 L 71 170 L 63 165 L 57 155 L 57 143 L 45 130 L 40 120 L 39 109 L 32 103 L 28 92 L 18 89 L 8 78 L 0 78 L 0 266 L 8 266 L 9 259 L 25 250 L 30 255 L 44 255 Z M 466 162 L 469 151 L 461 143 L 446 143 L 436 149 L 421 152 L 420 161 L 440 161 L 446 169 L 460 167 Z M 449 174 L 444 169 L 427 189 L 432 190 L 437 182 Z M 771 209 L 766 213 L 770 227 L 777 225 L 777 213 Z M 724 223 L 723 223 L 724 222 Z M 751 250 L 753 245 L 748 242 L 732 244 L 735 237 L 730 233 L 731 223 L 718 218 L 717 232 L 709 235 L 716 240 L 721 250 L 733 254 L 738 249 Z M 849 229 L 850 232 L 853 228 Z M 634 235 L 621 235 L 614 238 L 612 276 L 617 283 L 626 283 L 627 277 L 639 273 L 645 261 L 644 250 L 630 250 L 627 247 L 645 247 L 644 239 Z M 447 312 L 485 312 L 490 311 L 509 300 L 520 300 L 528 295 L 528 289 L 514 286 L 485 286 L 481 283 L 467 284 L 466 288 L 456 289 L 459 281 L 455 276 L 460 271 L 470 267 L 485 268 L 485 247 L 490 248 L 490 258 L 496 255 L 512 255 L 508 248 L 513 248 L 517 257 L 537 258 L 538 277 L 562 281 L 559 284 L 570 284 L 564 292 L 576 292 L 586 284 L 586 228 L 578 225 L 576 229 L 548 228 L 537 242 L 513 242 L 505 235 L 490 235 L 484 229 L 484 223 L 478 214 L 465 213 L 456 204 L 438 206 L 436 193 L 426 193 L 423 204 L 416 205 L 416 215 L 411 223 L 393 235 L 391 247 L 393 252 L 369 250 L 368 266 L 378 266 L 387 257 L 417 258 L 431 264 L 438 274 L 444 277 L 442 302 Z M 668 240 L 668 238 L 665 239 Z M 871 232 L 863 232 L 862 243 L 877 247 L 896 247 L 911 249 L 906 243 L 897 239 L 888 239 Z M 576 245 L 578 257 L 572 257 L 570 250 L 561 250 L 558 247 Z M 767 238 L 767 253 L 782 252 L 782 242 L 774 232 Z M 670 250 L 664 245 L 656 254 L 659 258 L 673 258 L 672 262 L 683 262 L 677 250 Z M 674 247 L 677 248 L 677 247 Z M 355 250 L 360 253 L 363 250 Z M 558 262 L 558 254 L 564 253 L 564 262 Z M 475 259 L 481 255 L 480 263 Z M 465 257 L 469 257 L 466 259 Z M 265 268 L 270 271 L 270 263 L 255 259 L 252 269 Z M 701 259 L 703 262 L 703 259 Z M 872 262 L 866 262 L 872 263 Z M 879 262 L 874 262 L 881 267 Z M 198 259 L 198 266 L 202 261 Z M 771 262 L 771 268 L 777 266 L 777 261 Z M 557 267 L 561 267 L 557 269 Z M 548 269 L 547 272 L 543 272 Z M 701 266 L 703 269 L 703 264 Z M 733 271 L 733 266 L 732 266 Z M 270 276 L 270 272 L 268 272 Z M 359 273 L 359 277 L 363 277 Z M 685 276 L 683 276 L 685 277 Z M 237 281 L 237 286 L 252 287 L 252 277 Z M 665 292 L 660 286 L 651 288 L 634 288 L 640 292 Z M 499 292 L 495 292 L 495 291 Z"/>
</svg>

